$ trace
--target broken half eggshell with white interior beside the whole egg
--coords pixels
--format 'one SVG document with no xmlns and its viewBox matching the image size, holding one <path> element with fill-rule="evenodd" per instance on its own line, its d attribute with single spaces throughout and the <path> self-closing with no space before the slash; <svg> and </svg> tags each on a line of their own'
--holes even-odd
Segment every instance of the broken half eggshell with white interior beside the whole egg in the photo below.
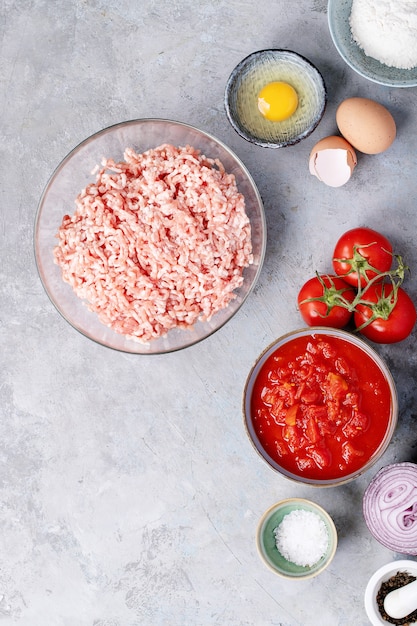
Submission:
<svg viewBox="0 0 417 626">
<path fill-rule="evenodd" d="M 341 187 L 348 182 L 356 167 L 355 150 L 350 143 L 331 135 L 324 137 L 310 153 L 310 173 L 329 187 Z"/>
</svg>

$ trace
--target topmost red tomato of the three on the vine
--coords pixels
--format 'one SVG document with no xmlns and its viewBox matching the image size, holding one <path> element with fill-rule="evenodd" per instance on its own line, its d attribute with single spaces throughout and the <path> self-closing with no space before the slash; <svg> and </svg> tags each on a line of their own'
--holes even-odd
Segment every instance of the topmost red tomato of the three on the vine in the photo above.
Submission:
<svg viewBox="0 0 417 626">
<path fill-rule="evenodd" d="M 370 228 L 353 228 L 342 235 L 333 253 L 333 269 L 347 283 L 364 287 L 380 272 L 388 272 L 393 261 L 392 245 Z"/>
</svg>

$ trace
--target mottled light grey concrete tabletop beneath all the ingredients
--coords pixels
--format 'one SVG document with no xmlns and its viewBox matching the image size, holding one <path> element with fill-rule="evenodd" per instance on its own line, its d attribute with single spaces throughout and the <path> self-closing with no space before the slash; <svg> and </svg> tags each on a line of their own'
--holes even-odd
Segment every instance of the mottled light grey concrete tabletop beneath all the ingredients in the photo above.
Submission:
<svg viewBox="0 0 417 626">
<path fill-rule="evenodd" d="M 254 453 L 241 415 L 246 375 L 276 337 L 302 326 L 296 295 L 329 271 L 345 230 L 389 236 L 417 296 L 416 89 L 367 82 L 339 58 L 325 0 L 2 0 L 0 2 L 0 624 L 7 626 L 365 626 L 363 594 L 398 558 L 369 534 L 362 495 L 377 469 L 417 461 L 416 331 L 380 346 L 400 416 L 379 464 L 313 489 Z M 246 143 L 223 92 L 233 67 L 267 47 L 322 71 L 324 119 L 291 148 Z M 378 100 L 398 136 L 359 155 L 351 181 L 308 172 L 349 96 Z M 235 318 L 167 356 L 107 350 L 55 311 L 37 275 L 33 224 L 42 190 L 78 142 L 138 117 L 187 122 L 224 141 L 251 171 L 268 222 L 265 264 Z M 307 497 L 333 516 L 339 547 L 306 582 L 258 558 L 262 513 Z"/>
</svg>

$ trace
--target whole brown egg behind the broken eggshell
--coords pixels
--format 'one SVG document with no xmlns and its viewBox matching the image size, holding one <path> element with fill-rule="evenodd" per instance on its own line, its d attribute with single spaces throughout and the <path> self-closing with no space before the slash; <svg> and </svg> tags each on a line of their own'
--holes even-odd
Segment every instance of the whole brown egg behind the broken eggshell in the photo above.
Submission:
<svg viewBox="0 0 417 626">
<path fill-rule="evenodd" d="M 384 152 L 396 136 L 391 113 L 368 98 L 344 100 L 336 111 L 336 123 L 343 137 L 365 154 Z"/>
</svg>

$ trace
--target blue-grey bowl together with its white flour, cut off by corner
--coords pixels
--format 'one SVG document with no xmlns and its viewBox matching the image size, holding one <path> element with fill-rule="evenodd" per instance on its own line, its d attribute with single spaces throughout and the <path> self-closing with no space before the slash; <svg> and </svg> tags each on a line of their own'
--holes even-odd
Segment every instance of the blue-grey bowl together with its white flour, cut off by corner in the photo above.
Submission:
<svg viewBox="0 0 417 626">
<path fill-rule="evenodd" d="M 417 1 L 329 0 L 328 21 L 355 72 L 388 87 L 417 86 Z"/>
</svg>

